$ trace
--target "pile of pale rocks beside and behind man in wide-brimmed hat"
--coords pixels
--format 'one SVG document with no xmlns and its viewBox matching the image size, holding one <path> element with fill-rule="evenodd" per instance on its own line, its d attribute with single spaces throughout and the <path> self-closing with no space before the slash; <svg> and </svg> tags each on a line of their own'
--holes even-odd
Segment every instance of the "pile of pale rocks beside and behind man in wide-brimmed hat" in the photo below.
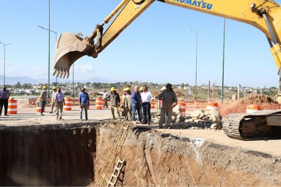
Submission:
<svg viewBox="0 0 281 187">
<path fill-rule="evenodd" d="M 160 113 L 152 116 L 152 122 L 158 123 Z M 221 129 L 222 123 L 217 110 L 195 110 L 190 116 L 183 116 L 180 106 L 173 108 L 171 128 L 174 129 Z"/>
</svg>

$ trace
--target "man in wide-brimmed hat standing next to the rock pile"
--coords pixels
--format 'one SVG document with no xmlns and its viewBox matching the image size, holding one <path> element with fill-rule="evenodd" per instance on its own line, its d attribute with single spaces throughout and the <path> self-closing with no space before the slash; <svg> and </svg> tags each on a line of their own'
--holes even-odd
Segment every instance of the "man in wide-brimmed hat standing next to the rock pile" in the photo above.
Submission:
<svg viewBox="0 0 281 187">
<path fill-rule="evenodd" d="M 172 84 L 168 83 L 166 85 L 166 90 L 163 91 L 157 98 L 163 101 L 158 128 L 163 128 L 165 113 L 168 112 L 167 127 L 170 129 L 173 107 L 177 105 L 177 96 L 173 91 Z"/>
</svg>

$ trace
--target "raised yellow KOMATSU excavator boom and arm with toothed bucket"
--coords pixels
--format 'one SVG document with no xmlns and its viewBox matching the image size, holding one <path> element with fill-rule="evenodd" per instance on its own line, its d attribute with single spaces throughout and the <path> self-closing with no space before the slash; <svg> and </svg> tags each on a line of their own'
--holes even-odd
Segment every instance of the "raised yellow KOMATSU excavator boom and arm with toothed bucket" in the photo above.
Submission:
<svg viewBox="0 0 281 187">
<path fill-rule="evenodd" d="M 271 0 L 158 0 L 238 22 L 247 23 L 263 32 L 277 68 L 281 66 L 281 8 Z M 81 38 L 72 33 L 59 36 L 54 56 L 53 75 L 69 76 L 71 65 L 84 55 L 96 58 L 131 22 L 141 15 L 155 0 L 122 0 L 122 2 L 97 25 L 91 35 Z M 117 14 L 103 32 L 103 26 Z M 272 44 L 273 43 L 273 44 Z"/>
</svg>

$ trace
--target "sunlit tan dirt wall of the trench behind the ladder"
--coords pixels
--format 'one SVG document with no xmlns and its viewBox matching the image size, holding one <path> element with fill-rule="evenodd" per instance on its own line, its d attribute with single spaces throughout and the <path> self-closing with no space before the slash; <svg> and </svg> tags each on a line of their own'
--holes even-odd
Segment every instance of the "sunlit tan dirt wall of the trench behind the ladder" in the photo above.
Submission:
<svg viewBox="0 0 281 187">
<path fill-rule="evenodd" d="M 116 125 L 110 124 L 97 130 L 95 180 L 117 132 Z M 280 158 L 203 139 L 161 136 L 151 129 L 132 127 L 122 146 L 121 158 L 126 165 L 119 186 L 281 185 Z"/>
</svg>

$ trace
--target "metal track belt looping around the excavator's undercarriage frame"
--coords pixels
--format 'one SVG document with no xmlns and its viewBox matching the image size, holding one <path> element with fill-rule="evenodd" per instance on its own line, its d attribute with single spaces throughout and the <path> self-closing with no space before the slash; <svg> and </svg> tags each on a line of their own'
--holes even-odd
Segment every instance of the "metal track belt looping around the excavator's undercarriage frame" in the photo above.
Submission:
<svg viewBox="0 0 281 187">
<path fill-rule="evenodd" d="M 224 133 L 234 139 L 239 140 L 260 140 L 260 139 L 276 139 L 280 137 L 242 137 L 242 124 L 240 123 L 244 118 L 254 118 L 260 116 L 268 116 L 271 114 L 281 114 L 281 110 L 261 110 L 249 114 L 229 114 L 223 118 Z"/>
</svg>

